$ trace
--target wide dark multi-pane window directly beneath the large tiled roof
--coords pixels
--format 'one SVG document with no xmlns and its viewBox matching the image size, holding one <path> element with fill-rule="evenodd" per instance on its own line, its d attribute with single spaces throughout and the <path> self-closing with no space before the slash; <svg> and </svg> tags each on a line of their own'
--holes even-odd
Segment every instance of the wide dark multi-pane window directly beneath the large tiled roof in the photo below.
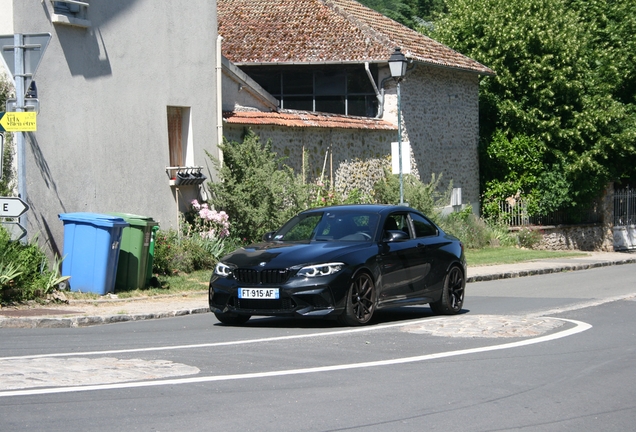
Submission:
<svg viewBox="0 0 636 432">
<path fill-rule="evenodd" d="M 362 65 L 245 66 L 242 68 L 281 108 L 375 117 L 377 97 Z M 377 67 L 371 69 L 377 78 Z"/>
</svg>

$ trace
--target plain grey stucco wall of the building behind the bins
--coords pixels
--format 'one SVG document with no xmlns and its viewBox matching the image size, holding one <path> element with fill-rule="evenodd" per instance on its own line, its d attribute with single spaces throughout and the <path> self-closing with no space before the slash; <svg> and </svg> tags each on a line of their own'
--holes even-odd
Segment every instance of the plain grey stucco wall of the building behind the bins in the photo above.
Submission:
<svg viewBox="0 0 636 432">
<path fill-rule="evenodd" d="M 170 185 L 168 106 L 190 109 L 187 161 L 214 177 L 205 150 L 218 154 L 216 1 L 91 1 L 88 28 L 53 24 L 50 1 L 12 6 L 9 32 L 52 34 L 35 77 L 38 130 L 26 139 L 29 236 L 61 254 L 58 214 L 69 212 L 175 227 L 177 207 L 199 190 Z"/>
</svg>

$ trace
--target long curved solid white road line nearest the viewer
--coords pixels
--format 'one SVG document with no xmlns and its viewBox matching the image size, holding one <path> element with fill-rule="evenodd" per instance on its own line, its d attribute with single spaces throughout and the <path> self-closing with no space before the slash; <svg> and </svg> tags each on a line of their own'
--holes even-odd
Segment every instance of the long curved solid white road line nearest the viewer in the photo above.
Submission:
<svg viewBox="0 0 636 432">
<path fill-rule="evenodd" d="M 31 390 L 14 390 L 14 391 L 0 392 L 0 397 L 34 396 L 34 395 L 47 395 L 47 394 L 84 392 L 84 391 L 96 391 L 96 390 L 114 390 L 114 389 L 124 389 L 124 388 L 157 387 L 157 386 L 167 386 L 167 385 L 208 383 L 208 382 L 216 382 L 216 381 L 258 379 L 258 378 L 269 378 L 269 377 L 278 377 L 278 376 L 334 372 L 334 371 L 342 371 L 342 370 L 350 370 L 350 369 L 363 369 L 363 368 L 370 368 L 370 367 L 390 366 L 390 365 L 397 365 L 397 364 L 404 364 L 404 363 L 414 363 L 414 362 L 421 362 L 421 361 L 427 361 L 427 360 L 436 360 L 440 358 L 455 357 L 460 355 L 477 354 L 477 353 L 483 353 L 488 351 L 519 348 L 523 346 L 549 342 L 549 341 L 561 339 L 567 336 L 572 336 L 592 328 L 590 324 L 587 324 L 582 321 L 575 321 L 575 320 L 569 320 L 564 318 L 555 318 L 555 319 L 572 323 L 575 325 L 575 327 L 567 329 L 567 330 L 563 330 L 557 333 L 552 333 L 546 336 L 541 336 L 541 337 L 537 337 L 533 339 L 526 339 L 526 340 L 516 341 L 516 342 L 511 342 L 506 344 L 499 344 L 499 345 L 493 345 L 493 346 L 481 347 L 481 348 L 470 348 L 470 349 L 449 351 L 449 352 L 441 352 L 441 353 L 435 353 L 435 354 L 426 354 L 426 355 L 414 356 L 414 357 L 403 357 L 403 358 L 390 359 L 390 360 L 350 363 L 350 364 L 341 364 L 341 365 L 333 365 L 333 366 L 319 366 L 319 367 L 303 368 L 303 369 L 289 369 L 289 370 L 281 370 L 281 371 L 256 372 L 256 373 L 247 373 L 247 374 L 178 378 L 178 379 L 168 379 L 168 380 L 160 380 L 160 381 L 128 382 L 128 383 L 118 383 L 118 384 L 87 385 L 87 386 L 69 386 L 69 387 L 60 387 L 60 388 L 45 388 L 45 389 L 31 389 Z M 401 325 L 406 325 L 406 324 L 413 324 L 413 323 L 402 323 Z M 331 333 L 341 333 L 341 332 L 331 332 Z M 271 339 L 280 339 L 280 338 L 271 338 Z"/>
</svg>

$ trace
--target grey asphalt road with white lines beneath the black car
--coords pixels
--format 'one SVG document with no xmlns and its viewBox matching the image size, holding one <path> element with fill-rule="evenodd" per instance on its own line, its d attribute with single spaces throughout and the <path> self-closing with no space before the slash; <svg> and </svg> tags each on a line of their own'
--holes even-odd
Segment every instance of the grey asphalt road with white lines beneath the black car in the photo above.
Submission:
<svg viewBox="0 0 636 432">
<path fill-rule="evenodd" d="M 636 264 L 467 287 L 371 326 L 212 314 L 0 329 L 0 429 L 625 431 Z"/>
</svg>

